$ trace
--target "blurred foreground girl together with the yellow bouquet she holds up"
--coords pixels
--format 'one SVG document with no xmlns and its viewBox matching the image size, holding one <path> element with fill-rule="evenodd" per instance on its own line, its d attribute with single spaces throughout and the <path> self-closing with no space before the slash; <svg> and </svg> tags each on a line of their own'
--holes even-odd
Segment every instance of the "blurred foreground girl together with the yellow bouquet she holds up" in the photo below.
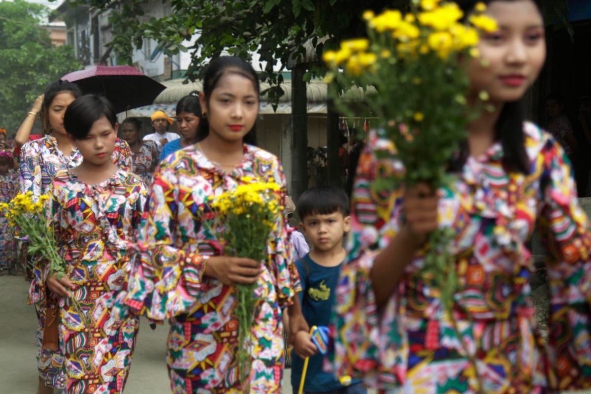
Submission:
<svg viewBox="0 0 591 394">
<path fill-rule="evenodd" d="M 522 112 L 545 60 L 540 4 L 462 7 L 423 0 L 406 16 L 368 13 L 367 48 L 376 60 L 358 56 L 349 67 L 355 51 L 338 55 L 346 77 L 357 67 L 362 77 L 391 76 L 384 85 L 376 79 L 377 93 L 369 95 L 382 121 L 355 181 L 333 314 L 334 366 L 339 376 L 362 376 L 392 392 L 589 388 L 590 224 L 564 149 Z M 456 26 L 468 12 L 479 34 L 475 41 L 466 35 L 472 43 L 463 46 L 450 29 L 471 29 Z M 394 40 L 381 41 L 392 43 L 381 54 L 386 48 L 372 37 L 386 35 Z M 415 91 L 404 90 L 398 107 L 380 106 L 398 94 L 401 85 L 383 88 L 392 80 Z M 454 135 L 456 128 L 465 136 Z M 421 167 L 437 159 L 444 165 Z M 528 285 L 534 265 L 526 242 L 536 227 L 548 249 L 547 337 Z"/>
</svg>

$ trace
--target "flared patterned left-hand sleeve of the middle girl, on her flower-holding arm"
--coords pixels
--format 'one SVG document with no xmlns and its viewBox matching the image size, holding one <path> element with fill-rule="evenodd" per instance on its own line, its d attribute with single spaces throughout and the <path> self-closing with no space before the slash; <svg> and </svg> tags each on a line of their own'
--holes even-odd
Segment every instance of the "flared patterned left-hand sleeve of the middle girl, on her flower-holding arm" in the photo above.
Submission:
<svg viewBox="0 0 591 394">
<path fill-rule="evenodd" d="M 174 169 L 158 167 L 139 224 L 139 255 L 130 265 L 123 301 L 135 314 L 155 321 L 187 311 L 210 286 L 203 278 L 209 256 L 183 248 L 182 235 L 190 229 L 178 220 L 179 193 Z"/>
</svg>

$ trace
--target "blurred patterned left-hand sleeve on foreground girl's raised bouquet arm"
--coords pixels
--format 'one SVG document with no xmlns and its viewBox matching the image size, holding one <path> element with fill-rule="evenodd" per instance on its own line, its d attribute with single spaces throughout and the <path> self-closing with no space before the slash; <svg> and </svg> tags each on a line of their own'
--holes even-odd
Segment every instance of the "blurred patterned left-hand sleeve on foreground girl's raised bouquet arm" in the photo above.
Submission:
<svg viewBox="0 0 591 394">
<path fill-rule="evenodd" d="M 400 291 L 378 311 L 370 272 L 401 223 L 402 191 L 382 180 L 402 177 L 394 146 L 376 132 L 359 158 L 353 185 L 352 230 L 348 256 L 336 288 L 329 369 L 337 376 L 363 378 L 369 386 L 398 386 L 407 365 L 407 340 L 401 320 Z"/>
</svg>

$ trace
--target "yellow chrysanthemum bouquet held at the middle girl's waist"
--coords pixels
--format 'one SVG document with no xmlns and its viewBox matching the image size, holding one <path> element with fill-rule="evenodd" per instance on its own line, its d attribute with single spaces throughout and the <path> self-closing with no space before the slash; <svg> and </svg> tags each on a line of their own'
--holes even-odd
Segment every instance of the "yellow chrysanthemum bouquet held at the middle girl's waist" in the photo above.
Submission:
<svg viewBox="0 0 591 394">
<path fill-rule="evenodd" d="M 223 243 L 227 256 L 267 261 L 267 240 L 277 226 L 281 204 L 281 187 L 251 177 L 245 184 L 213 198 L 210 207 L 216 213 L 214 227 L 217 239 Z M 258 299 L 256 284 L 236 285 L 235 315 L 238 319 L 238 369 L 246 382 L 251 369 L 251 328 Z"/>
</svg>

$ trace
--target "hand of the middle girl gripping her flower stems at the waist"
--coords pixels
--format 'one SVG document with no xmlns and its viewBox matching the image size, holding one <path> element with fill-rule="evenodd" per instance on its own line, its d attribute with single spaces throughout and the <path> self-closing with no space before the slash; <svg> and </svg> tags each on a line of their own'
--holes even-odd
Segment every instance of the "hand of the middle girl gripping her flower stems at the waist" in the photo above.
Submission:
<svg viewBox="0 0 591 394">
<path fill-rule="evenodd" d="M 205 275 L 225 285 L 251 285 L 261 275 L 261 263 L 248 258 L 213 256 L 207 260 Z"/>
</svg>

